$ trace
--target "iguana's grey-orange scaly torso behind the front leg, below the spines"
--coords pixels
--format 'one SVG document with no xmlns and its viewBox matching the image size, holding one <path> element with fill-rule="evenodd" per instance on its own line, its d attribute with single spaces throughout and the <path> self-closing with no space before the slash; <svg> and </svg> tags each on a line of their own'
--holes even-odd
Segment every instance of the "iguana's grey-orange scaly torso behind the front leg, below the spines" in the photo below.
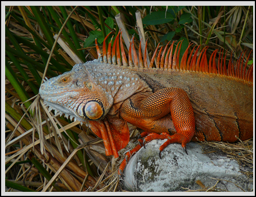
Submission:
<svg viewBox="0 0 256 197">
<path fill-rule="evenodd" d="M 237 141 L 253 136 L 253 83 L 235 77 L 189 70 L 132 69 L 155 92 L 180 88 L 195 113 L 200 141 Z M 175 128 L 173 128 L 175 130 Z"/>
</svg>

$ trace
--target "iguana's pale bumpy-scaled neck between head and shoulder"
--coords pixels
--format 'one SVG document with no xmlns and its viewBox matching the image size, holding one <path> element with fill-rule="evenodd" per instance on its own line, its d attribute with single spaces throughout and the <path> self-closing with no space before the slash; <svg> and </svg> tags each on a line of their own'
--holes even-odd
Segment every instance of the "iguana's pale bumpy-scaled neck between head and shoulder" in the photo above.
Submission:
<svg viewBox="0 0 256 197">
<path fill-rule="evenodd" d="M 90 77 L 89 80 L 110 94 L 109 96 L 114 99 L 113 104 L 121 103 L 137 92 L 151 92 L 145 81 L 127 67 L 97 60 L 88 62 L 84 67 Z"/>
</svg>

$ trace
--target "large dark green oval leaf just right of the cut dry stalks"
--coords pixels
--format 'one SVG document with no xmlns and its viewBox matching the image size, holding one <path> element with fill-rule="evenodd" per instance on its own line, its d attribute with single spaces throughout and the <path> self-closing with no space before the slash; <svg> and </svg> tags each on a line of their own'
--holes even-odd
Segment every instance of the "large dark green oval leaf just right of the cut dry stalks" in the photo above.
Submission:
<svg viewBox="0 0 256 197">
<path fill-rule="evenodd" d="M 146 15 L 142 22 L 145 25 L 160 25 L 174 20 L 174 17 L 168 11 L 154 11 L 151 14 Z"/>
</svg>

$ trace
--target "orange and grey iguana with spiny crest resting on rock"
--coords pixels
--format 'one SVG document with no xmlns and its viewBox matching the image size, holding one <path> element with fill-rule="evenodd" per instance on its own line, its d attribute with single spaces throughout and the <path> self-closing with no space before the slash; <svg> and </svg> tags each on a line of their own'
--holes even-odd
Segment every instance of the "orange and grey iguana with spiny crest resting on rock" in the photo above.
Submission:
<svg viewBox="0 0 256 197">
<path fill-rule="evenodd" d="M 218 50 L 207 61 L 207 47 L 199 56 L 199 46 L 193 55 L 194 47 L 188 56 L 190 44 L 179 62 L 181 44 L 173 53 L 172 42 L 163 53 L 162 46 L 156 58 L 158 45 L 148 65 L 147 42 L 143 60 L 141 45 L 138 58 L 132 40 L 127 61 L 120 32 L 112 52 L 112 39 L 107 52 L 107 37 L 103 54 L 96 41 L 97 60 L 76 64 L 69 72 L 44 80 L 39 92 L 49 111 L 74 117 L 102 138 L 106 155 L 118 157 L 118 151 L 128 144 L 127 122 L 145 131 L 141 133 L 145 142 L 168 139 L 160 152 L 170 143 L 186 148 L 190 141 L 234 142 L 237 137 L 253 137 L 253 65 L 246 72 L 250 54 L 244 68 L 245 53 L 236 66 L 229 60 L 226 68 L 226 55 L 220 51 L 216 67 Z M 156 68 L 152 68 L 155 58 Z M 127 157 L 142 145 L 140 140 Z"/>
</svg>

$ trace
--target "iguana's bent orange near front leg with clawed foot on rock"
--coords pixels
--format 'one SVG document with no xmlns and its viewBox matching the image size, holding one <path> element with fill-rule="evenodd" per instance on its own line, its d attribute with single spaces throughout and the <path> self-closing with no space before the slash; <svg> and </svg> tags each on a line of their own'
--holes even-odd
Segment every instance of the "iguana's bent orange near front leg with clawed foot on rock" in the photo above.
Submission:
<svg viewBox="0 0 256 197">
<path fill-rule="evenodd" d="M 137 93 L 124 101 L 120 115 L 124 120 L 150 132 L 146 141 L 168 139 L 160 151 L 170 143 L 183 148 L 195 134 L 195 117 L 187 93 L 179 88 L 166 88 L 146 96 Z M 156 135 L 155 133 L 170 133 Z"/>
</svg>

